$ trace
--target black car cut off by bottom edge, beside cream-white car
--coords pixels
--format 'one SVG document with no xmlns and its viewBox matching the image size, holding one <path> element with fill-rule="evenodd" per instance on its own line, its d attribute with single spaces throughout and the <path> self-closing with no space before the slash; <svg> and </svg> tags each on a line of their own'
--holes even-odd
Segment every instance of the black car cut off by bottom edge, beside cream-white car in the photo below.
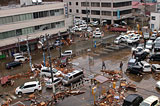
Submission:
<svg viewBox="0 0 160 106">
<path fill-rule="evenodd" d="M 122 106 L 139 106 L 142 101 L 142 96 L 138 94 L 130 94 L 124 99 Z"/>
</svg>

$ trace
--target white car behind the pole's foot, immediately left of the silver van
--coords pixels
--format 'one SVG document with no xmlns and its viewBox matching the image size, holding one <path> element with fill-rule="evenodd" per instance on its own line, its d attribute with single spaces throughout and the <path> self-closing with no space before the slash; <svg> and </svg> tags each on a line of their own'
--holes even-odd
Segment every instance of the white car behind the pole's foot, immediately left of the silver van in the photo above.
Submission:
<svg viewBox="0 0 160 106">
<path fill-rule="evenodd" d="M 58 84 L 60 84 L 62 81 L 62 78 L 56 78 L 54 77 L 53 78 L 53 83 L 52 83 L 52 79 L 49 78 L 46 82 L 45 82 L 45 86 L 46 88 L 52 88 L 53 87 L 53 84 L 54 86 L 57 86 Z"/>
</svg>

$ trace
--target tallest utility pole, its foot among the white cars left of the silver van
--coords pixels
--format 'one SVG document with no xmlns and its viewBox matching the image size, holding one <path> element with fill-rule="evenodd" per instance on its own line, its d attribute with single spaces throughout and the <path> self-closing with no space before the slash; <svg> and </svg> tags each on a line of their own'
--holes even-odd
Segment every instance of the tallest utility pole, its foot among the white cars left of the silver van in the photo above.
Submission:
<svg viewBox="0 0 160 106">
<path fill-rule="evenodd" d="M 46 41 L 47 41 L 47 49 L 48 49 L 48 58 L 49 58 L 49 65 L 50 65 L 50 71 L 51 71 L 51 78 L 52 78 L 52 83 L 53 83 L 53 71 L 52 71 L 52 61 L 51 61 L 51 51 L 50 51 L 50 47 L 49 47 L 49 34 L 45 34 L 46 36 Z"/>
</svg>

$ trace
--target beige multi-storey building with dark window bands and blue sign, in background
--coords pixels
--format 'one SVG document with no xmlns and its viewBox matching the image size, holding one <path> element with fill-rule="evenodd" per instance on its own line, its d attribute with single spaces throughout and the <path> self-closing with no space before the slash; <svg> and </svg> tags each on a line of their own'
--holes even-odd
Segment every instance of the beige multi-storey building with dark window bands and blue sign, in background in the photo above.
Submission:
<svg viewBox="0 0 160 106">
<path fill-rule="evenodd" d="M 132 0 L 64 0 L 68 13 L 88 21 L 114 23 L 132 16 Z M 88 14 L 88 15 L 87 15 Z"/>
</svg>

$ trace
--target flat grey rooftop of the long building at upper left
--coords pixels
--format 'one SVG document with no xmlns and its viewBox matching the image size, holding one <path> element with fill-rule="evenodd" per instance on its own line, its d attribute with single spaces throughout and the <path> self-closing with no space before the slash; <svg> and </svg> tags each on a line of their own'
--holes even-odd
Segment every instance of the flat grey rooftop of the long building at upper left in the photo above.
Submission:
<svg viewBox="0 0 160 106">
<path fill-rule="evenodd" d="M 60 3 L 59 1 L 54 1 L 54 2 L 42 2 L 41 4 L 38 5 L 16 5 L 16 4 L 12 4 L 12 5 L 8 5 L 8 6 L 1 6 L 0 10 L 7 10 L 7 9 L 14 9 L 14 8 L 22 8 L 22 7 L 30 7 L 30 6 L 39 6 L 39 5 L 49 5 L 49 4 L 55 4 L 55 3 Z"/>
</svg>

